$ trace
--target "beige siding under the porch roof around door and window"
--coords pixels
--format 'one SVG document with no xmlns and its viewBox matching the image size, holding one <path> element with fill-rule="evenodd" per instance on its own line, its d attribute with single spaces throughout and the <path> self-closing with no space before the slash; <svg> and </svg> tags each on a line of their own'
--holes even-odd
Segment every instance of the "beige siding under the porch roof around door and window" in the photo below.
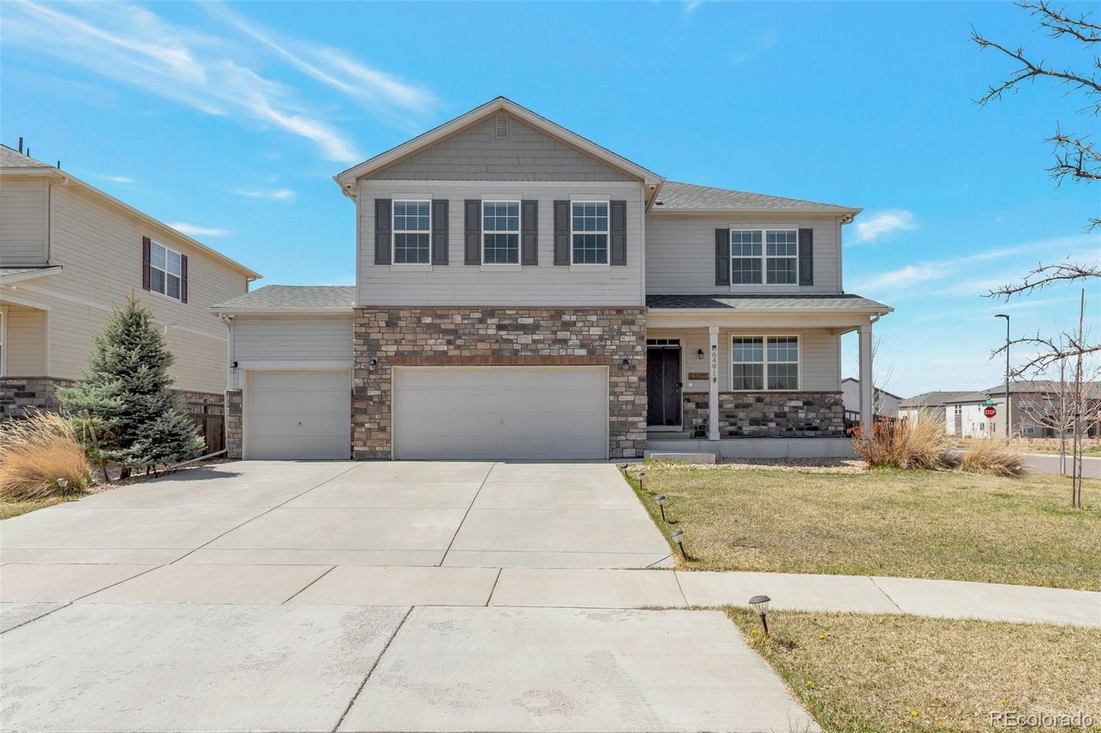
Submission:
<svg viewBox="0 0 1101 733">
<path fill-rule="evenodd" d="M 731 339 L 734 336 L 798 336 L 799 337 L 799 389 L 807 392 L 840 392 L 841 374 L 838 372 L 840 337 L 825 329 L 719 329 L 719 391 L 730 391 Z M 680 339 L 680 371 L 685 392 L 707 392 L 707 380 L 690 381 L 691 372 L 707 372 L 709 347 L 706 328 L 650 329 L 647 339 Z M 704 359 L 697 355 L 704 350 Z"/>
</svg>

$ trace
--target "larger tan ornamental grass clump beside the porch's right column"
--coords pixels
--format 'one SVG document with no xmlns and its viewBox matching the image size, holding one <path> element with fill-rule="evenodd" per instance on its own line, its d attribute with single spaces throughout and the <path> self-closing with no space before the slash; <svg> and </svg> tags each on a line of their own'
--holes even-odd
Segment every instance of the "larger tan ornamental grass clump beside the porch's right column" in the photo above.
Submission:
<svg viewBox="0 0 1101 733">
<path fill-rule="evenodd" d="M 852 449 L 871 467 L 944 470 L 956 464 L 952 437 L 944 422 L 876 419 L 870 435 L 855 428 Z"/>
</svg>

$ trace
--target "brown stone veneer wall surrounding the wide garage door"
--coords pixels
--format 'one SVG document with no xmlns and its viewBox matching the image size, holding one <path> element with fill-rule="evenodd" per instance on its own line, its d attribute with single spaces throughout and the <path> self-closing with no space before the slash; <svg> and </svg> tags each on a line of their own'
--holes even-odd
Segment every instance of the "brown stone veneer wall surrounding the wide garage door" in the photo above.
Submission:
<svg viewBox="0 0 1101 733">
<path fill-rule="evenodd" d="M 356 308 L 353 330 L 356 459 L 390 458 L 393 368 L 403 365 L 607 365 L 609 455 L 646 447 L 645 308 L 367 306 Z"/>
</svg>

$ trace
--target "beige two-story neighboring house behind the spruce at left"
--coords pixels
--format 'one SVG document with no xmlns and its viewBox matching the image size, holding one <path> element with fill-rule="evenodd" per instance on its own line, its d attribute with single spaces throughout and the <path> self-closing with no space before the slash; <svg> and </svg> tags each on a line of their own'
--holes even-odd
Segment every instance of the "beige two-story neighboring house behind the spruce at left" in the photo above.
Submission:
<svg viewBox="0 0 1101 733">
<path fill-rule="evenodd" d="M 65 171 L 0 146 L 0 417 L 56 408 L 131 293 L 175 355 L 176 389 L 220 400 L 227 328 L 209 307 L 260 275 Z"/>
</svg>

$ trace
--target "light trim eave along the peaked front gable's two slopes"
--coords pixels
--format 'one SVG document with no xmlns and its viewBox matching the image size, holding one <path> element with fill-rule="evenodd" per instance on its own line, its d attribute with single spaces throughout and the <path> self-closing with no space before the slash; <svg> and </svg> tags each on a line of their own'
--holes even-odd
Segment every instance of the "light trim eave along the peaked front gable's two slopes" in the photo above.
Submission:
<svg viewBox="0 0 1101 733">
<path fill-rule="evenodd" d="M 379 153 L 374 157 L 369 157 L 368 160 L 363 161 L 358 165 L 353 165 L 352 167 L 346 171 L 341 171 L 336 176 L 334 176 L 334 179 L 337 182 L 337 185 L 340 186 L 341 190 L 349 190 L 352 186 L 355 186 L 355 183 L 358 178 L 367 175 L 368 173 L 385 167 L 386 165 L 390 165 L 391 163 L 394 163 L 397 160 L 411 153 L 414 153 L 423 147 L 432 145 L 443 140 L 444 138 L 447 138 L 448 135 L 455 134 L 456 132 L 459 132 L 460 130 L 470 127 L 478 120 L 481 120 L 487 114 L 494 112 L 497 110 L 504 110 L 510 114 L 513 114 L 524 120 L 525 122 L 536 128 L 539 128 L 543 131 L 556 138 L 562 139 L 563 141 L 574 145 L 575 147 L 578 147 L 579 150 L 588 153 L 589 155 L 599 157 L 600 160 L 604 161 L 606 163 L 609 163 L 610 165 L 613 165 L 622 171 L 625 171 L 626 173 L 630 173 L 631 175 L 642 178 L 644 185 L 656 186 L 665 180 L 664 177 L 659 176 L 653 171 L 644 168 L 637 163 L 629 161 L 622 155 L 618 155 L 608 150 L 607 147 L 602 147 L 592 142 L 591 140 L 582 138 L 576 132 L 567 130 L 560 124 L 552 122 L 545 117 L 536 114 L 532 110 L 525 107 L 521 107 L 516 102 L 512 101 L 511 99 L 506 99 L 504 97 L 498 97 L 497 99 L 491 99 L 484 105 L 476 107 L 469 112 L 460 114 L 459 117 L 449 120 L 436 128 L 433 128 L 427 132 L 421 133 L 416 138 L 407 140 L 403 142 L 401 145 L 397 145 L 396 147 L 391 147 L 390 150 L 383 153 Z"/>
</svg>

